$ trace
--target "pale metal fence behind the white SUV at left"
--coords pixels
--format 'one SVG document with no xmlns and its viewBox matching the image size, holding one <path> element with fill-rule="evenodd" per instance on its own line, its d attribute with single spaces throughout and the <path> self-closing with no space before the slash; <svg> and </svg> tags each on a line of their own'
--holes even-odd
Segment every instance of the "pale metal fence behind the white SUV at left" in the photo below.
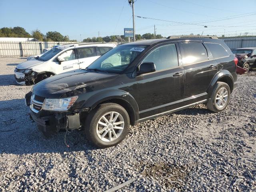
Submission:
<svg viewBox="0 0 256 192">
<path fill-rule="evenodd" d="M 0 57 L 26 57 L 42 54 L 45 48 L 77 42 L 0 41 Z"/>
</svg>

